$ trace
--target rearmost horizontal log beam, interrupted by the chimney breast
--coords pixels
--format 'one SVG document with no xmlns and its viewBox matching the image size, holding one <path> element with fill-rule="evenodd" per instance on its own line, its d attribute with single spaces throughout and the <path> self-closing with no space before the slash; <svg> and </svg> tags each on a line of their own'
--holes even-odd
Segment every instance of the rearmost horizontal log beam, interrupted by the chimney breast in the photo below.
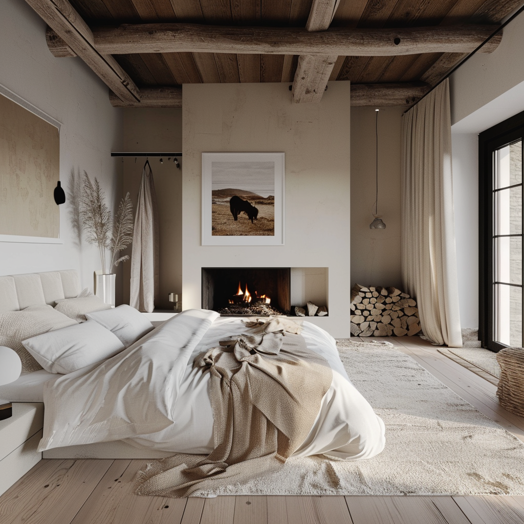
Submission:
<svg viewBox="0 0 524 524">
<path fill-rule="evenodd" d="M 411 105 L 430 90 L 424 82 L 389 84 L 352 84 L 352 106 Z M 182 88 L 142 88 L 141 101 L 123 102 L 114 93 L 109 99 L 114 107 L 182 107 Z"/>
</svg>

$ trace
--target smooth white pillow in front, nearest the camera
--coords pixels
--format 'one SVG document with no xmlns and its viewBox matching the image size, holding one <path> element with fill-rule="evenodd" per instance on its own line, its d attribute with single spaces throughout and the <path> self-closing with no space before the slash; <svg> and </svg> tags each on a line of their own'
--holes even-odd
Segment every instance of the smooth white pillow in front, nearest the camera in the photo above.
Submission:
<svg viewBox="0 0 524 524">
<path fill-rule="evenodd" d="M 22 341 L 26 350 L 50 373 L 72 373 L 124 350 L 111 331 L 97 322 L 82 322 Z"/>
</svg>

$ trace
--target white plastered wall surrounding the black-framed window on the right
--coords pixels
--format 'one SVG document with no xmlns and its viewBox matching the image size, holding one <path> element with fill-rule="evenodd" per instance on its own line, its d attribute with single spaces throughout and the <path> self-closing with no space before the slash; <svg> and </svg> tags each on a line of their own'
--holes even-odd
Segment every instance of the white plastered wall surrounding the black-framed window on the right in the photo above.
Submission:
<svg viewBox="0 0 524 524">
<path fill-rule="evenodd" d="M 450 77 L 453 190 L 462 328 L 478 327 L 478 134 L 524 110 L 524 14 L 493 53 Z"/>
</svg>

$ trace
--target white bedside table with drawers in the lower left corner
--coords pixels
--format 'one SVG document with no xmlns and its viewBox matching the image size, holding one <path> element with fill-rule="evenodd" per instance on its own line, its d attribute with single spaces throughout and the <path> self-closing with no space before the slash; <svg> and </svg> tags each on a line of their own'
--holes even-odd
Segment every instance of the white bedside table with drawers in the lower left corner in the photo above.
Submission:
<svg viewBox="0 0 524 524">
<path fill-rule="evenodd" d="M 0 495 L 41 460 L 42 428 L 42 402 L 13 402 L 13 416 L 0 420 Z"/>
</svg>

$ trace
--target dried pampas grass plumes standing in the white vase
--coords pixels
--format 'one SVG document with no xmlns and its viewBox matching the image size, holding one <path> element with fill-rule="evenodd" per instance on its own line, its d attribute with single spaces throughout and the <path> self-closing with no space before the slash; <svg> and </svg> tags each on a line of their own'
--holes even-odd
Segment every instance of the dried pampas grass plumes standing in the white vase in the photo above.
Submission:
<svg viewBox="0 0 524 524">
<path fill-rule="evenodd" d="M 110 271 L 113 266 L 129 258 L 128 255 L 125 255 L 115 260 L 119 252 L 133 242 L 133 204 L 129 193 L 120 202 L 113 221 L 99 181 L 95 177 L 94 182 L 91 182 L 88 173 L 84 171 L 80 217 L 86 241 L 97 245 L 100 250 L 103 274 L 106 274 L 106 249 L 110 249 L 113 253 Z"/>
</svg>

